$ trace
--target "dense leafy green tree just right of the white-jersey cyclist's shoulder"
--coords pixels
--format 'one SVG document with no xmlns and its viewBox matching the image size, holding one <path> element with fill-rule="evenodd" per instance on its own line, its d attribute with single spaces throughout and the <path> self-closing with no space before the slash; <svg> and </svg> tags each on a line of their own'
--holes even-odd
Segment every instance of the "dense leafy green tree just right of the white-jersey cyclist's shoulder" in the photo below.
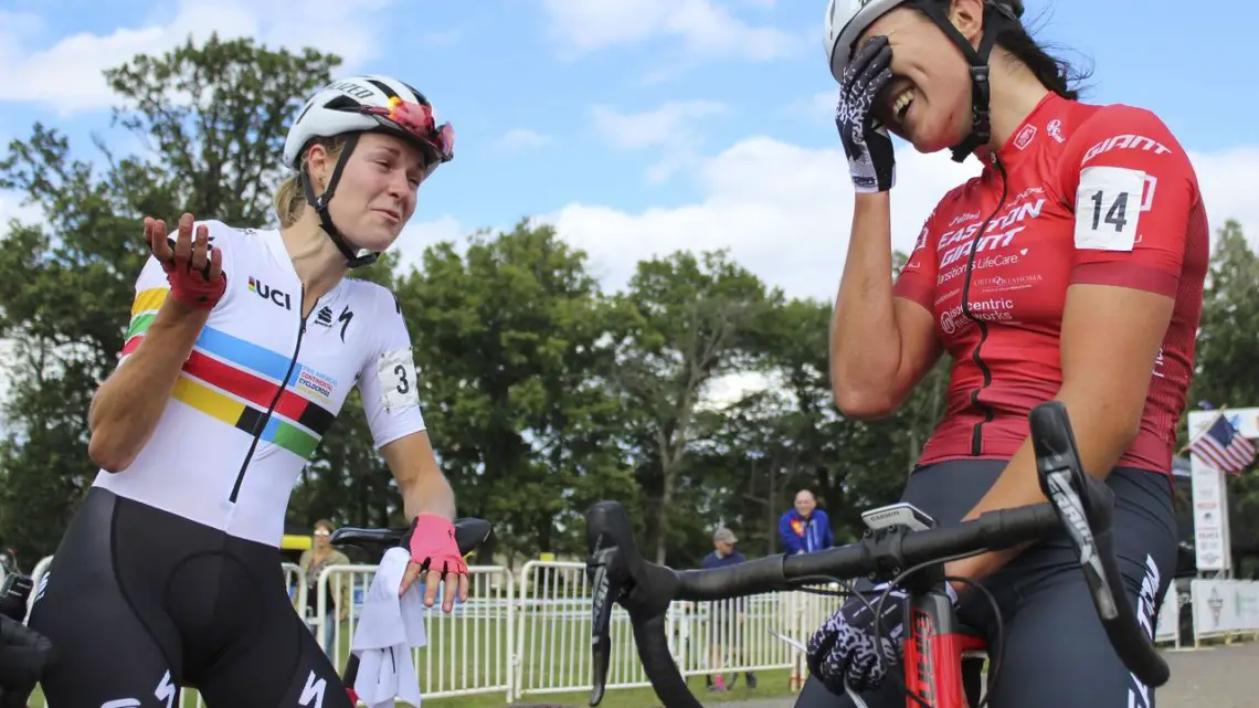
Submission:
<svg viewBox="0 0 1259 708">
<path fill-rule="evenodd" d="M 460 511 L 491 520 L 509 552 L 579 551 L 585 505 L 635 496 L 607 435 L 607 309 L 585 254 L 551 227 L 520 223 L 473 236 L 465 254 L 428 248 L 398 296 Z"/>
</svg>

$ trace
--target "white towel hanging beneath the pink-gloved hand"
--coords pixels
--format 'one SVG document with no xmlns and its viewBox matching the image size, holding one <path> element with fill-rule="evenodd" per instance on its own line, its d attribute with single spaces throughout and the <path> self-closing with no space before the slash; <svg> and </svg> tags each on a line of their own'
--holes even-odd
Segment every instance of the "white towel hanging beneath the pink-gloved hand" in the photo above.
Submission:
<svg viewBox="0 0 1259 708">
<path fill-rule="evenodd" d="M 428 640 L 422 585 L 415 582 L 407 595 L 398 596 L 408 561 L 410 553 L 405 548 L 390 548 L 380 559 L 350 644 L 350 653 L 359 658 L 354 692 L 368 708 L 393 708 L 395 698 L 419 705 L 419 679 L 410 650 Z"/>
</svg>

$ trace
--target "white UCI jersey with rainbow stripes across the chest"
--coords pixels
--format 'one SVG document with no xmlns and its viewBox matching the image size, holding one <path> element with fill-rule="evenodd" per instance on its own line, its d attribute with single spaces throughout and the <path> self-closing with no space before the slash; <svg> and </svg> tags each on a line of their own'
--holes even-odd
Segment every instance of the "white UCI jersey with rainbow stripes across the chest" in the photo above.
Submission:
<svg viewBox="0 0 1259 708">
<path fill-rule="evenodd" d="M 351 387 L 359 387 L 378 448 L 424 430 L 410 336 L 393 294 L 351 278 L 303 319 L 303 287 L 278 231 L 201 223 L 223 252 L 227 292 L 152 437 L 127 469 L 101 470 L 93 484 L 278 547 L 290 493 Z M 167 292 L 166 275 L 150 257 L 136 282 L 120 365 Z"/>
</svg>

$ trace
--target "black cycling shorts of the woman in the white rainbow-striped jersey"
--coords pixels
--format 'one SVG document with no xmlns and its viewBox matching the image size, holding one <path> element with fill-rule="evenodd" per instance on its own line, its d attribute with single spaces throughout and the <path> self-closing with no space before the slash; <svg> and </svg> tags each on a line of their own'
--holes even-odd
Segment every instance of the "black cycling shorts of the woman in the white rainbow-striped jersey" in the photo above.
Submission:
<svg viewBox="0 0 1259 708">
<path fill-rule="evenodd" d="M 45 577 L 49 708 L 174 708 L 180 687 L 210 708 L 351 708 L 271 545 L 93 488 Z"/>
</svg>

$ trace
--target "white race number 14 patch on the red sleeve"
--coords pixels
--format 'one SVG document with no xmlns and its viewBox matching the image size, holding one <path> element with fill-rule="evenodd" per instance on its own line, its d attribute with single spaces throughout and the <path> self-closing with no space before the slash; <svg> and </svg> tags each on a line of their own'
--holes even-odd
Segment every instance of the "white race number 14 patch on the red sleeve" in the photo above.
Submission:
<svg viewBox="0 0 1259 708">
<path fill-rule="evenodd" d="M 1146 173 L 1141 170 L 1084 168 L 1075 191 L 1075 247 L 1132 251 L 1146 207 Z"/>
</svg>

